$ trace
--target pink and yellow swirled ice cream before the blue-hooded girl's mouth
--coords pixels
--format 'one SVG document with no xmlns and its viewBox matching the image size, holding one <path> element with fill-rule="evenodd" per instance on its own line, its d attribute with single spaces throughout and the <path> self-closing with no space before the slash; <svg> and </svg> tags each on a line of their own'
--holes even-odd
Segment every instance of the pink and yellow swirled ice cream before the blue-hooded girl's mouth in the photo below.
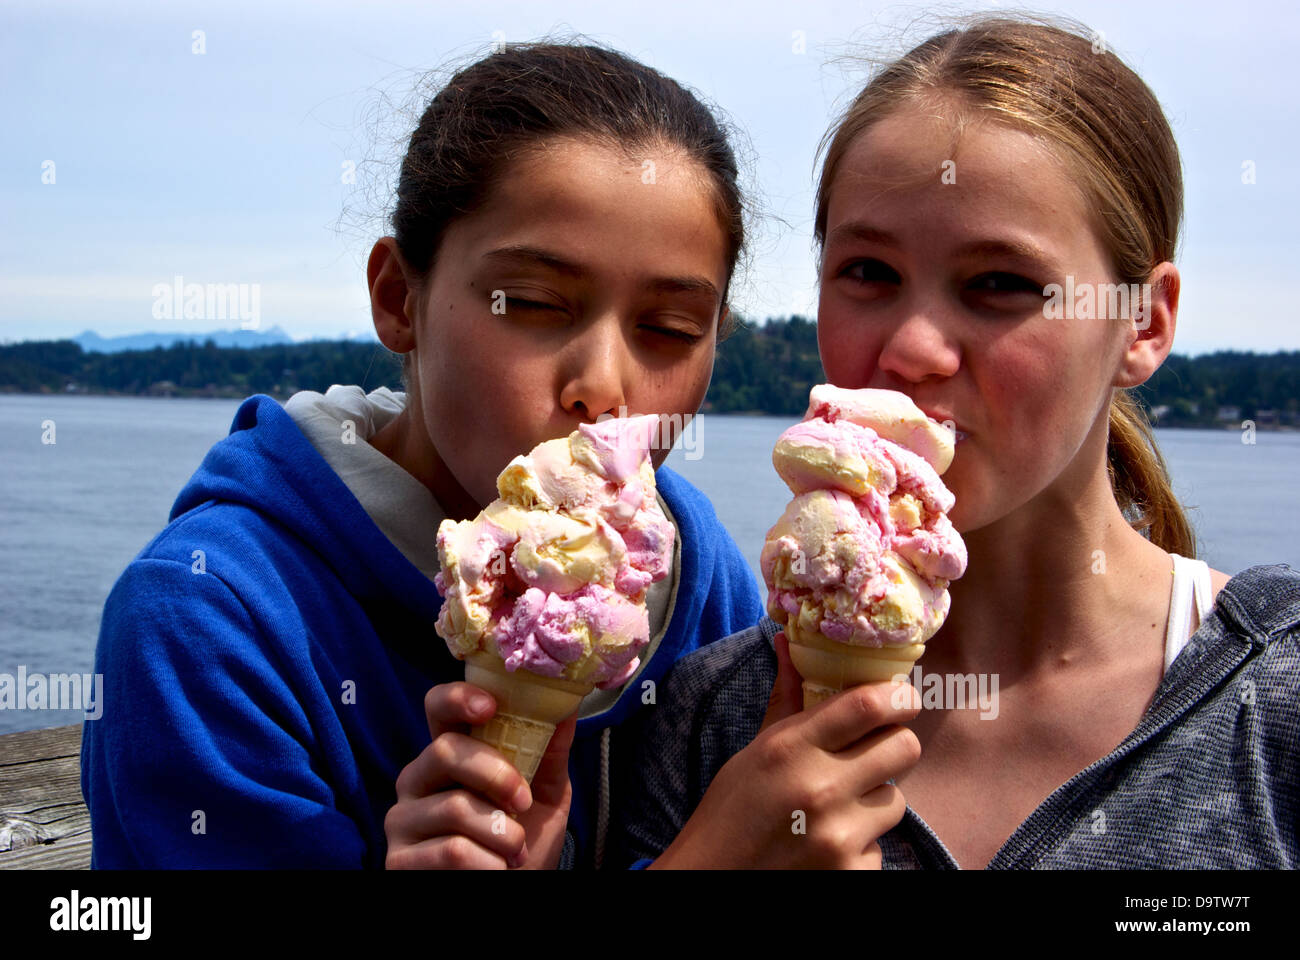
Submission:
<svg viewBox="0 0 1300 960">
<path fill-rule="evenodd" d="M 511 460 L 478 516 L 442 523 L 437 630 L 454 656 L 488 652 L 508 673 L 603 688 L 636 673 L 646 588 L 672 562 L 656 429 L 655 416 L 582 424 Z"/>
</svg>

